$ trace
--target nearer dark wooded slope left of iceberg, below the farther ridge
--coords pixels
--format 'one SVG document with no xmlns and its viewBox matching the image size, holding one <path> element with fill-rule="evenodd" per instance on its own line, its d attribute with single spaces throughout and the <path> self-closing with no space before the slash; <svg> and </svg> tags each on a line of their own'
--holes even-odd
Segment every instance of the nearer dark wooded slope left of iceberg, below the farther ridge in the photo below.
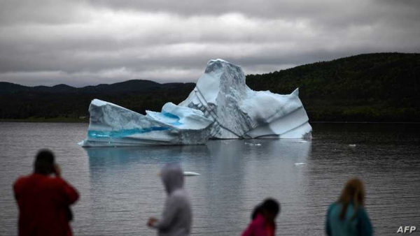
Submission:
<svg viewBox="0 0 420 236">
<path fill-rule="evenodd" d="M 45 93 L 25 91 L 0 94 L 0 119 L 52 119 L 77 120 L 89 117 L 88 108 L 94 98 L 121 105 L 127 109 L 146 114 L 146 110 L 160 111 L 168 101 L 181 103 L 195 84 L 180 84 L 148 92 L 106 93 Z"/>
</svg>

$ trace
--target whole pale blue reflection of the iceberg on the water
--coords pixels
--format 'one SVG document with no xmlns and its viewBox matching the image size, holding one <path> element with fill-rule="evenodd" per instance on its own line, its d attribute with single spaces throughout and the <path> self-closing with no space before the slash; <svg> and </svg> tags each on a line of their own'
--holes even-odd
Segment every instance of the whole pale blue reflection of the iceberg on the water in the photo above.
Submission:
<svg viewBox="0 0 420 236">
<path fill-rule="evenodd" d="M 165 190 L 157 174 L 165 163 L 176 161 L 183 170 L 200 173 L 186 178 L 186 189 L 194 207 L 193 232 L 202 235 L 214 235 L 215 228 L 240 233 L 255 204 L 266 196 L 287 202 L 286 207 L 290 202 L 304 202 L 302 183 L 311 165 L 311 141 L 287 139 L 209 140 L 207 145 L 158 148 L 91 147 L 85 152 L 97 235 L 122 234 L 118 231 L 122 228 L 127 229 L 126 235 L 132 234 L 130 229 L 153 234 L 139 222 L 161 214 Z M 307 165 L 297 168 L 294 163 Z M 288 218 L 290 212 L 285 211 L 282 217 L 298 222 L 300 213 Z M 113 219 L 120 219 L 118 226 Z"/>
</svg>

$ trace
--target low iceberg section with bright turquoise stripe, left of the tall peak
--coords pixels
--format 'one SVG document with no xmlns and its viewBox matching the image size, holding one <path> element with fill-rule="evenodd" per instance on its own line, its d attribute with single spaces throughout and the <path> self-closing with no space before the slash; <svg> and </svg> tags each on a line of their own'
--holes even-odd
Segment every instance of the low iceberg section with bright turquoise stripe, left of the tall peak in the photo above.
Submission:
<svg viewBox="0 0 420 236">
<path fill-rule="evenodd" d="M 204 144 L 210 124 L 200 110 L 166 103 L 162 112 L 141 115 L 113 103 L 94 99 L 83 147 Z"/>
</svg>

